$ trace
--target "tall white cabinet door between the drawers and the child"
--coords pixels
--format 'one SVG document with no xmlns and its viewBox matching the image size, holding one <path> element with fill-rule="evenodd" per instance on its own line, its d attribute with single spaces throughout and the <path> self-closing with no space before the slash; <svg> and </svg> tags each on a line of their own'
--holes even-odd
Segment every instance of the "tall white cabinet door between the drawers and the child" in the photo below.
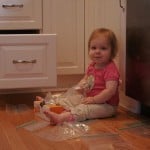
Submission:
<svg viewBox="0 0 150 150">
<path fill-rule="evenodd" d="M 58 74 L 83 73 L 84 0 L 49 0 L 44 10 L 43 31 L 57 34 Z"/>
</svg>

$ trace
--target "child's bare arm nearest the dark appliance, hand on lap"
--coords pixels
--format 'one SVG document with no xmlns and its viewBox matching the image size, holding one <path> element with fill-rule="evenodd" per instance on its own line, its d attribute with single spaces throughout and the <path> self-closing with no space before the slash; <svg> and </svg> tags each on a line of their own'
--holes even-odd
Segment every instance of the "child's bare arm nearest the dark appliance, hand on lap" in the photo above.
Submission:
<svg viewBox="0 0 150 150">
<path fill-rule="evenodd" d="M 100 104 L 109 100 L 116 92 L 118 87 L 117 81 L 107 81 L 106 88 L 94 97 L 87 97 L 83 100 L 84 104 Z"/>
</svg>

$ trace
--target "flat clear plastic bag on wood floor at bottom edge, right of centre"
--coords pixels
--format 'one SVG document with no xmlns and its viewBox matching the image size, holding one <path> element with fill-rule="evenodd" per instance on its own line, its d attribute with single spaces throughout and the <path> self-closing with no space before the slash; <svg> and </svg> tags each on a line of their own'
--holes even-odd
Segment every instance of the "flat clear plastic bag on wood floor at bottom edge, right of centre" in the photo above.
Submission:
<svg viewBox="0 0 150 150">
<path fill-rule="evenodd" d="M 100 133 L 81 138 L 89 150 L 133 150 L 133 145 L 126 142 L 119 134 Z"/>
</svg>

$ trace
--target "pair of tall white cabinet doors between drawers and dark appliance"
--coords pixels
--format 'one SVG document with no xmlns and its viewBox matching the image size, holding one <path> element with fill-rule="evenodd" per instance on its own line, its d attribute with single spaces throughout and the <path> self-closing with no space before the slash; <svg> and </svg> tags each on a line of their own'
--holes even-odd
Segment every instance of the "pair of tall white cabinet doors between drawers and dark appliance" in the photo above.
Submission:
<svg viewBox="0 0 150 150">
<path fill-rule="evenodd" d="M 58 74 L 84 73 L 88 38 L 95 28 L 110 28 L 120 40 L 119 0 L 49 0 L 43 6 L 44 33 L 58 34 Z"/>
</svg>

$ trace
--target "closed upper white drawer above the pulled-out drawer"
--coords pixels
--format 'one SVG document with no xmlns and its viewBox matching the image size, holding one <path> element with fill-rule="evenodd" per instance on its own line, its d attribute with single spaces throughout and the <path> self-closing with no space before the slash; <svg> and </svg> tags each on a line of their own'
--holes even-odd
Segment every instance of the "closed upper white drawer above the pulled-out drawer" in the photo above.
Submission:
<svg viewBox="0 0 150 150">
<path fill-rule="evenodd" d="M 1 0 L 0 29 L 41 29 L 42 0 Z"/>
</svg>

